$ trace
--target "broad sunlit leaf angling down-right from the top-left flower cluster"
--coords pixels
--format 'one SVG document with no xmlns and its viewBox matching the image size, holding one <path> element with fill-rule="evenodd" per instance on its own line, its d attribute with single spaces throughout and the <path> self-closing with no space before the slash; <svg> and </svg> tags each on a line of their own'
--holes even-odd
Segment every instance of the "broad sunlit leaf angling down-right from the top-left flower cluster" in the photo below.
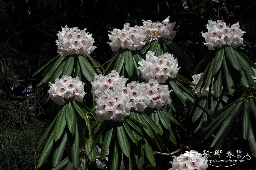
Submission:
<svg viewBox="0 0 256 170">
<path fill-rule="evenodd" d="M 96 73 L 96 71 L 94 70 L 93 66 L 91 66 L 91 63 L 81 55 L 78 56 L 78 60 L 84 77 L 89 82 L 93 82 L 94 73 Z"/>
</svg>

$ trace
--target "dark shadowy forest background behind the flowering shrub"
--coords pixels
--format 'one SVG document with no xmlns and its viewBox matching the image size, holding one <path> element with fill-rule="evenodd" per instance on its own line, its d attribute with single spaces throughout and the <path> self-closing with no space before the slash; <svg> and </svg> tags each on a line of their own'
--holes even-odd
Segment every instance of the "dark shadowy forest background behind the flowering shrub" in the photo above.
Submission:
<svg viewBox="0 0 256 170">
<path fill-rule="evenodd" d="M 125 22 L 133 27 L 142 25 L 142 19 L 156 22 L 170 16 L 170 22 L 176 21 L 175 29 L 179 30 L 174 41 L 192 51 L 196 66 L 208 53 L 200 33 L 207 31 L 208 20 L 221 19 L 227 25 L 239 21 L 240 28 L 246 31 L 244 46 L 239 50 L 255 62 L 255 11 L 254 0 L 0 1 L 0 169 L 35 169 L 40 155 L 40 149 L 35 147 L 59 108 L 52 101 L 45 103 L 46 86 L 36 87 L 41 75 L 31 76 L 57 55 L 55 41 L 61 26 L 87 28 L 93 33 L 97 48 L 92 56 L 104 64 L 113 55 L 106 44 L 108 31 L 122 29 Z M 175 132 L 181 135 L 178 145 L 200 148 L 202 137 L 192 134 L 188 123 L 191 119 L 180 121 L 187 129 Z M 208 143 L 204 145 L 207 149 Z M 239 142 L 236 145 L 240 147 Z M 170 152 L 177 149 L 168 143 L 165 146 Z M 171 167 L 168 162 L 172 158 L 156 159 L 165 162 L 156 169 Z M 250 162 L 245 167 L 252 166 L 255 167 Z"/>
</svg>

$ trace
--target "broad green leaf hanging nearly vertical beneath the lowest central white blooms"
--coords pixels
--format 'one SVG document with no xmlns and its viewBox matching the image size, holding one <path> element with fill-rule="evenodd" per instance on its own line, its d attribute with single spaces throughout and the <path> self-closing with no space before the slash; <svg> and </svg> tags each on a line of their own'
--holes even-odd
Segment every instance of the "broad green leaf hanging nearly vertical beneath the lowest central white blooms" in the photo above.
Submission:
<svg viewBox="0 0 256 170">
<path fill-rule="evenodd" d="M 117 139 L 119 146 L 123 153 L 127 156 L 130 157 L 130 146 L 129 146 L 129 141 L 127 139 L 127 136 L 125 134 L 123 126 L 117 126 Z"/>
</svg>

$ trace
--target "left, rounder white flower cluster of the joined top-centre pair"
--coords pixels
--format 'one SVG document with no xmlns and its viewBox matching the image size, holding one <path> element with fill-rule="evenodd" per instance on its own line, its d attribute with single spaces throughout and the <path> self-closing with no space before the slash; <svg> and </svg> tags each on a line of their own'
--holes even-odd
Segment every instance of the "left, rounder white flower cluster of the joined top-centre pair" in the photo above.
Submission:
<svg viewBox="0 0 256 170">
<path fill-rule="evenodd" d="M 112 51 L 118 51 L 119 48 L 127 48 L 129 50 L 141 50 L 146 44 L 144 27 L 130 27 L 129 23 L 124 24 L 123 29 L 114 28 L 113 31 L 109 31 L 108 34 L 111 42 L 108 42 Z"/>
</svg>

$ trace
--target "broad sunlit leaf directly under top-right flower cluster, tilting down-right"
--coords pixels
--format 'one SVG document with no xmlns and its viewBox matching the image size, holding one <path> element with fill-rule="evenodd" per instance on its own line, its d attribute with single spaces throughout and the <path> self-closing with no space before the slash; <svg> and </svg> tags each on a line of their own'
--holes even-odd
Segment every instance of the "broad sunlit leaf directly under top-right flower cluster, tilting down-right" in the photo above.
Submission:
<svg viewBox="0 0 256 170">
<path fill-rule="evenodd" d="M 227 59 L 229 60 L 230 64 L 236 68 L 239 72 L 241 72 L 241 64 L 240 60 L 238 59 L 236 52 L 231 46 L 225 47 L 225 54 L 227 56 Z"/>
</svg>

